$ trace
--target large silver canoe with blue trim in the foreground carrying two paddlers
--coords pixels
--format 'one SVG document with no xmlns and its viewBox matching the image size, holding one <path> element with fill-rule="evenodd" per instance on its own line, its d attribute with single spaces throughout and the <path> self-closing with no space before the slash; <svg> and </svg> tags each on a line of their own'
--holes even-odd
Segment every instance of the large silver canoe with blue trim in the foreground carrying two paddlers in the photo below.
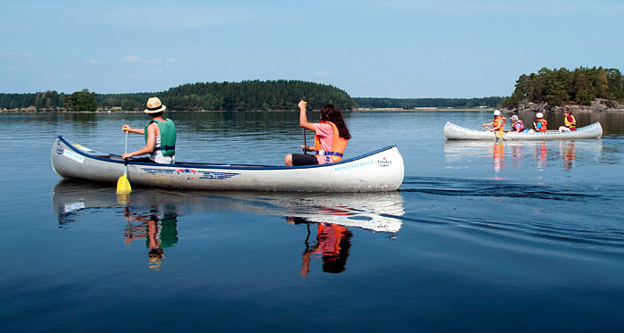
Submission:
<svg viewBox="0 0 624 333">
<path fill-rule="evenodd" d="M 64 178 L 116 184 L 124 174 L 119 155 L 104 154 L 59 136 L 52 167 Z M 127 179 L 142 186 L 242 191 L 382 192 L 403 182 L 397 146 L 331 164 L 300 167 L 177 162 L 127 162 Z"/>
</svg>

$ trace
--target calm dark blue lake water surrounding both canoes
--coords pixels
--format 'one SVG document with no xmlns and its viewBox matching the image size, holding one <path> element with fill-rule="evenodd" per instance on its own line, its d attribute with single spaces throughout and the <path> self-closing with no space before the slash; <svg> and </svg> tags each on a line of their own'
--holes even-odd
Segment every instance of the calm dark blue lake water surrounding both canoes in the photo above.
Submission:
<svg viewBox="0 0 624 333">
<path fill-rule="evenodd" d="M 303 141 L 298 112 L 168 116 L 177 161 L 278 165 Z M 599 140 L 527 143 L 442 135 L 491 112 L 346 118 L 349 157 L 397 144 L 398 191 L 135 188 L 123 203 L 62 181 L 50 150 L 63 135 L 121 154 L 144 114 L 0 113 L 0 330 L 624 329 L 622 114 L 577 115 Z"/>
</svg>

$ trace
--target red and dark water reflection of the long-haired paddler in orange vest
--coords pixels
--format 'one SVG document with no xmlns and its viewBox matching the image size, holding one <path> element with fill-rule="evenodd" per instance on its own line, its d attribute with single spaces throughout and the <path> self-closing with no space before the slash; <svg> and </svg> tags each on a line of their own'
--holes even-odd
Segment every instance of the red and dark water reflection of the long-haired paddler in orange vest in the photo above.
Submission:
<svg viewBox="0 0 624 333">
<path fill-rule="evenodd" d="M 309 223 L 306 219 L 287 218 L 289 223 Z M 309 232 L 309 224 L 308 224 Z M 307 277 L 310 271 L 312 254 L 320 254 L 323 258 L 323 271 L 327 273 L 340 273 L 345 270 L 349 248 L 351 247 L 351 237 L 353 234 L 349 229 L 333 223 L 318 223 L 316 232 L 316 246 L 308 247 L 306 239 L 306 250 L 301 254 L 301 275 Z M 308 234 L 309 237 L 309 234 Z"/>
</svg>

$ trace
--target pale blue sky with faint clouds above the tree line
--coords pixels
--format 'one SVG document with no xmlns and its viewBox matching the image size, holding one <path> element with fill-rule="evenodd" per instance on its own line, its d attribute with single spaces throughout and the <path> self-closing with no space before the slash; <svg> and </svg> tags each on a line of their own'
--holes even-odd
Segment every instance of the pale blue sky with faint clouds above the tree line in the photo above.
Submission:
<svg viewBox="0 0 624 333">
<path fill-rule="evenodd" d="M 301 79 L 354 97 L 509 96 L 521 74 L 624 71 L 624 1 L 3 1 L 0 92 Z"/>
</svg>

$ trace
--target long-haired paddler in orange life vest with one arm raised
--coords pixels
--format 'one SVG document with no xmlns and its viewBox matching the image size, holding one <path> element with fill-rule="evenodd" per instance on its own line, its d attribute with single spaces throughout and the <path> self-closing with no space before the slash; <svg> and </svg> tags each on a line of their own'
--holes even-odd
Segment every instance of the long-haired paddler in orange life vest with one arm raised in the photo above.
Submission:
<svg viewBox="0 0 624 333">
<path fill-rule="evenodd" d="M 341 110 L 334 104 L 325 104 L 321 108 L 321 119 L 318 123 L 308 122 L 306 102 L 301 100 L 299 123 L 304 129 L 314 130 L 315 146 L 301 146 L 304 151 L 316 154 L 287 154 L 284 158 L 286 166 L 324 164 L 339 162 L 342 159 L 347 143 L 351 138 L 347 124 L 342 118 Z"/>
</svg>

